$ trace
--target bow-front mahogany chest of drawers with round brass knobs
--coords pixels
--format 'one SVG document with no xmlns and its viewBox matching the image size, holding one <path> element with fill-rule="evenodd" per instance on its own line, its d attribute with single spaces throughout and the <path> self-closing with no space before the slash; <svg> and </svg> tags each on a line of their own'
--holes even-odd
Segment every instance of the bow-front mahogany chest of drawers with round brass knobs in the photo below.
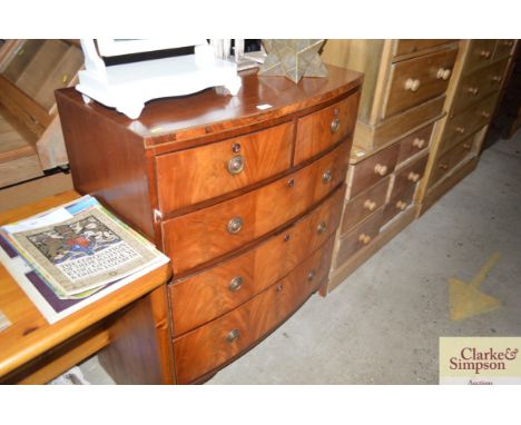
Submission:
<svg viewBox="0 0 521 425">
<path fill-rule="evenodd" d="M 156 100 L 134 121 L 57 92 L 75 188 L 171 258 L 173 281 L 112 329 L 117 382 L 203 382 L 325 284 L 362 82 L 328 70 L 246 71 L 236 97 Z"/>
</svg>

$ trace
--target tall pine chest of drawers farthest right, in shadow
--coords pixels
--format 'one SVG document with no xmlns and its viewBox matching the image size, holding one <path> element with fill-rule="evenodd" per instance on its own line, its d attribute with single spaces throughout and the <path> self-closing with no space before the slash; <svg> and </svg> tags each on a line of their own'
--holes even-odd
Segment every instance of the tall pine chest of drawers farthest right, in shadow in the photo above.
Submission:
<svg viewBox="0 0 521 425">
<path fill-rule="evenodd" d="M 431 157 L 416 194 L 419 215 L 471 172 L 494 115 L 515 40 L 461 40 Z"/>
</svg>

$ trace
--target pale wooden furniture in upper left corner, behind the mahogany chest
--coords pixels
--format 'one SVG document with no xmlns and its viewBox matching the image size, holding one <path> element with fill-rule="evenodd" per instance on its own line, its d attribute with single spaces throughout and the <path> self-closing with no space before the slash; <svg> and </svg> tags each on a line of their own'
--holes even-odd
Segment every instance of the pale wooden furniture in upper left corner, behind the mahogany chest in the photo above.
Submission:
<svg viewBox="0 0 521 425">
<path fill-rule="evenodd" d="M 68 164 L 53 91 L 75 85 L 82 63 L 72 41 L 0 47 L 0 188 Z"/>
</svg>

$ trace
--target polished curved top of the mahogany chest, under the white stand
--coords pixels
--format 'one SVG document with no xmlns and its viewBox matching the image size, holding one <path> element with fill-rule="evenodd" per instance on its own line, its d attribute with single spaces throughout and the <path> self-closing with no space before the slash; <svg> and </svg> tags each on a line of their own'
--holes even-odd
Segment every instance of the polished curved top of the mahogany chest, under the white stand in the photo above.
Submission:
<svg viewBox="0 0 521 425">
<path fill-rule="evenodd" d="M 303 78 L 297 85 L 284 77 L 257 77 L 257 70 L 245 71 L 239 75 L 243 86 L 236 96 L 212 88 L 197 95 L 157 99 L 148 102 L 136 120 L 97 102 L 85 103 L 73 88 L 59 90 L 57 96 L 81 105 L 87 113 L 101 115 L 153 147 L 277 119 L 333 100 L 362 83 L 360 72 L 333 66 L 327 69 L 327 78 Z"/>
</svg>

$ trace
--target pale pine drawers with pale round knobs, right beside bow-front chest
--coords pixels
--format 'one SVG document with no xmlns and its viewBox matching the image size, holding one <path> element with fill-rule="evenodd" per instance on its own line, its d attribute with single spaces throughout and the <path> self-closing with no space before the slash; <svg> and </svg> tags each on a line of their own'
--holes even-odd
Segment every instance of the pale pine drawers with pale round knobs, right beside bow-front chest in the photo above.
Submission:
<svg viewBox="0 0 521 425">
<path fill-rule="evenodd" d="M 406 227 L 443 117 L 458 42 L 328 40 L 325 62 L 365 73 L 330 283 L 335 288 Z"/>
</svg>

